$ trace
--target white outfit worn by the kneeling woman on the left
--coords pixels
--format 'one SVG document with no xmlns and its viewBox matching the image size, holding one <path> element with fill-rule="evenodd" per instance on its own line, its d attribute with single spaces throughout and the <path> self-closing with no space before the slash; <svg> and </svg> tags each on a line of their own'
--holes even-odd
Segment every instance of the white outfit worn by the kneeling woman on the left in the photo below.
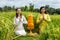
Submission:
<svg viewBox="0 0 60 40">
<path fill-rule="evenodd" d="M 20 17 L 16 18 L 14 17 L 14 24 L 18 25 L 17 30 L 15 30 L 15 33 L 17 35 L 26 35 L 26 32 L 24 30 L 23 24 L 27 24 L 27 21 L 24 16 L 22 16 L 21 21 L 19 20 Z"/>
</svg>

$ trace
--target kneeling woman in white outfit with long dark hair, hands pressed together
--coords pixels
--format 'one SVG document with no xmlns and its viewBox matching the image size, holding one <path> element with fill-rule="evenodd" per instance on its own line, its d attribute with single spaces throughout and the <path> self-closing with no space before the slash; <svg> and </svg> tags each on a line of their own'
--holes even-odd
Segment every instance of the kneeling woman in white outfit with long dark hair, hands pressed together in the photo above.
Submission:
<svg viewBox="0 0 60 40">
<path fill-rule="evenodd" d="M 21 9 L 16 9 L 16 16 L 14 17 L 14 24 L 16 25 L 15 33 L 17 35 L 26 35 L 23 24 L 27 24 L 26 18 L 22 15 Z"/>
</svg>

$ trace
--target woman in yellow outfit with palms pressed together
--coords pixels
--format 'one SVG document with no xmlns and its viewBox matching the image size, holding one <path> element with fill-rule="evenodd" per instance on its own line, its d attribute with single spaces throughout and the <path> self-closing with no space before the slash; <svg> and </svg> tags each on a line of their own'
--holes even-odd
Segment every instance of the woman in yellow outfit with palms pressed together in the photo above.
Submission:
<svg viewBox="0 0 60 40">
<path fill-rule="evenodd" d="M 43 31 L 44 26 L 51 21 L 50 16 L 47 14 L 45 7 L 40 8 L 40 13 L 37 17 L 37 23 L 39 23 L 39 33 Z"/>
</svg>

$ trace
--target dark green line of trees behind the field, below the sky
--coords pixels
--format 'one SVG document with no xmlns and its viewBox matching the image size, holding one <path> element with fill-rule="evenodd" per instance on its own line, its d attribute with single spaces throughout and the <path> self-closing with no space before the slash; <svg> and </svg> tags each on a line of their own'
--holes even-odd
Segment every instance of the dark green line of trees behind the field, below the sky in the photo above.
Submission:
<svg viewBox="0 0 60 40">
<path fill-rule="evenodd" d="M 46 11 L 49 13 L 49 14 L 60 14 L 60 8 L 52 8 L 50 7 L 49 5 L 45 5 L 44 6 L 46 8 Z M 31 12 L 39 12 L 40 11 L 40 8 L 34 8 L 34 4 L 30 3 L 29 6 L 25 5 L 25 6 L 22 6 L 22 7 L 19 7 L 22 11 L 31 11 Z M 4 12 L 9 12 L 9 11 L 12 11 L 12 10 L 15 10 L 15 6 L 4 6 L 4 7 L 0 7 L 0 11 L 4 11 Z"/>
</svg>

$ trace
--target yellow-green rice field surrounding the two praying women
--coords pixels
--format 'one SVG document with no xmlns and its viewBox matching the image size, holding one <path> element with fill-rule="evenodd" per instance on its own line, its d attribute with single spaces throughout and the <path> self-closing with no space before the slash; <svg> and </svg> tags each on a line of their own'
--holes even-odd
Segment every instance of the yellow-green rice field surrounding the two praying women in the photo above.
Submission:
<svg viewBox="0 0 60 40">
<path fill-rule="evenodd" d="M 37 32 L 38 25 L 36 24 L 36 18 L 39 13 L 37 12 L 22 12 L 23 15 L 28 17 L 29 13 L 33 14 L 35 29 L 33 32 Z M 19 36 L 14 34 L 15 25 L 13 25 L 13 18 L 15 12 L 0 12 L 0 40 L 60 40 L 60 15 L 50 15 L 51 22 L 48 26 L 44 27 L 42 33 L 36 37 Z M 28 33 L 27 26 L 24 25 L 26 32 Z M 17 38 L 16 38 L 17 37 Z"/>
</svg>

